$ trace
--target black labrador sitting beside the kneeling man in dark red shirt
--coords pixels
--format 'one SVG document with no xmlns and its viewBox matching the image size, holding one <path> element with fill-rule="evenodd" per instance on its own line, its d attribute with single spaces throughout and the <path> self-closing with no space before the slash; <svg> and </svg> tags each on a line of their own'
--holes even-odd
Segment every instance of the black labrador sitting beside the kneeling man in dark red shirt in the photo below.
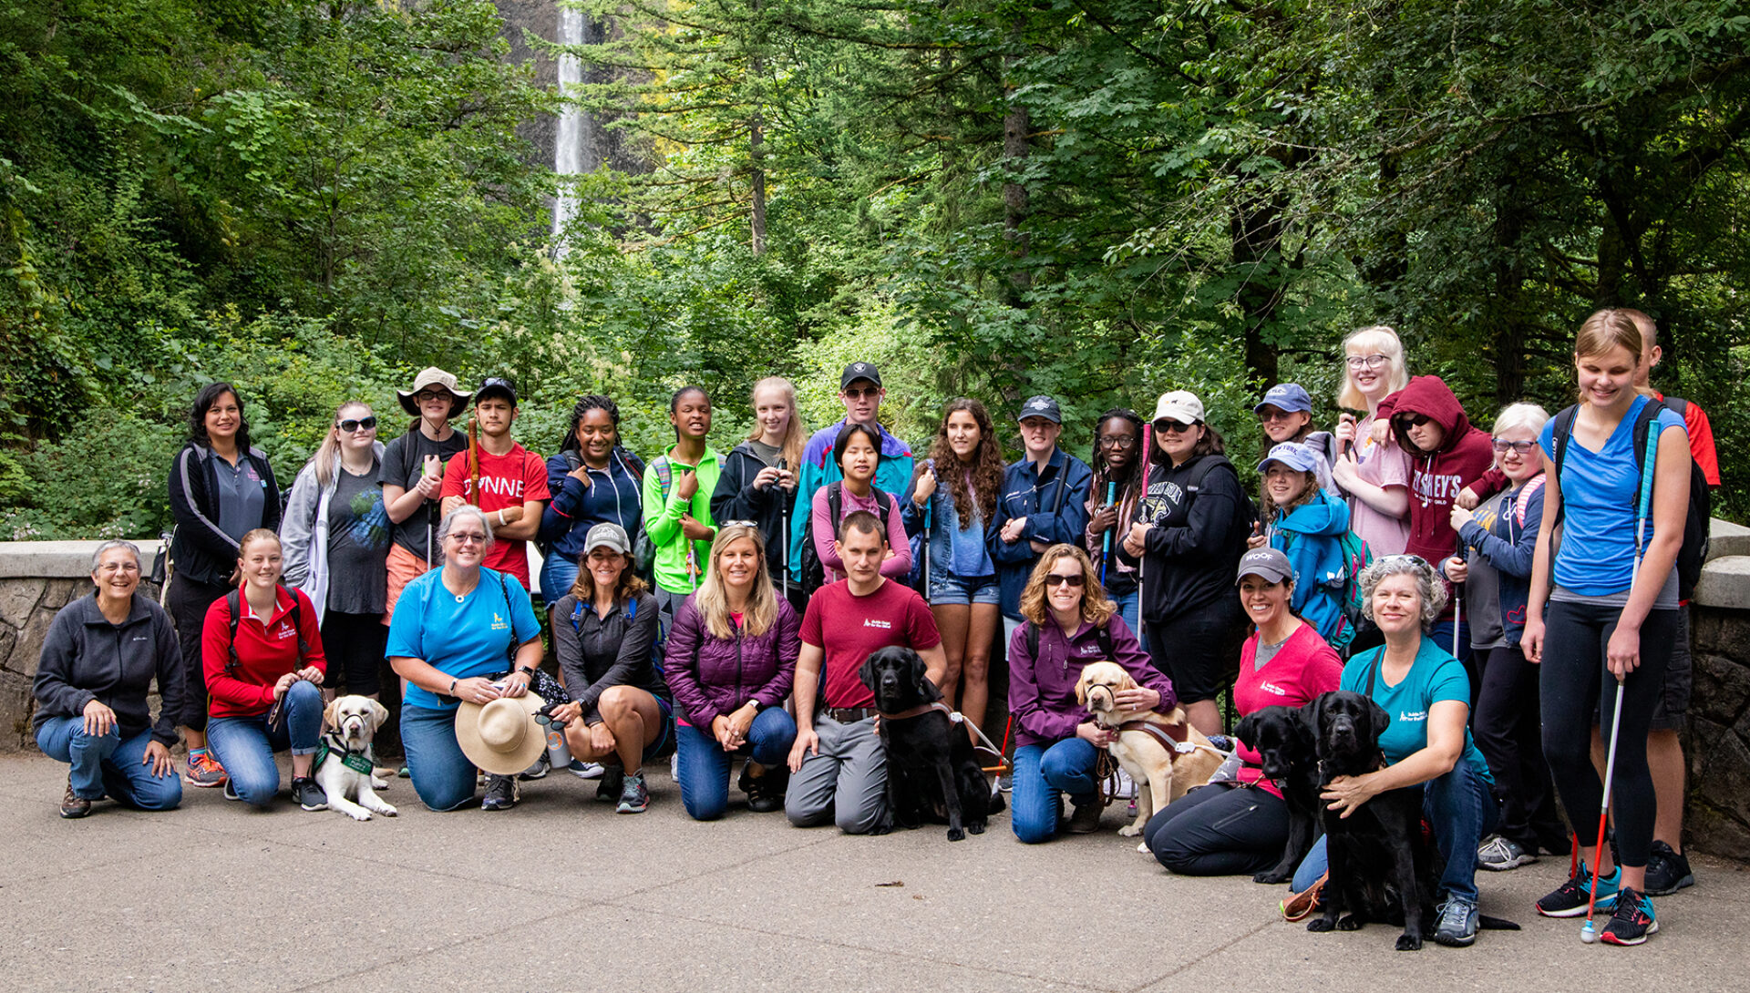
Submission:
<svg viewBox="0 0 1750 993">
<path fill-rule="evenodd" d="M 887 823 L 875 834 L 924 820 L 947 823 L 948 841 L 984 834 L 1003 801 L 992 802 L 971 740 L 948 717 L 942 691 L 924 675 L 924 659 L 912 649 L 880 649 L 858 675 L 875 694 L 887 750 Z"/>
</svg>

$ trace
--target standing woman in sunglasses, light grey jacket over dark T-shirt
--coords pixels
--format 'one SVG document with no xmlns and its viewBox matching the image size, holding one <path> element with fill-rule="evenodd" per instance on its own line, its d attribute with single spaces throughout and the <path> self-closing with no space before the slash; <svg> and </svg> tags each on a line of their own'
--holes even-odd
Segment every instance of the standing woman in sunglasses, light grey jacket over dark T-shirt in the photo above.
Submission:
<svg viewBox="0 0 1750 993">
<path fill-rule="evenodd" d="M 376 414 L 348 400 L 334 411 L 315 456 L 292 481 L 280 540 L 285 586 L 315 605 L 327 645 L 324 696 L 346 692 L 376 699 L 383 663 L 383 610 L 388 598 L 390 524 L 383 509 L 383 442 Z"/>
</svg>

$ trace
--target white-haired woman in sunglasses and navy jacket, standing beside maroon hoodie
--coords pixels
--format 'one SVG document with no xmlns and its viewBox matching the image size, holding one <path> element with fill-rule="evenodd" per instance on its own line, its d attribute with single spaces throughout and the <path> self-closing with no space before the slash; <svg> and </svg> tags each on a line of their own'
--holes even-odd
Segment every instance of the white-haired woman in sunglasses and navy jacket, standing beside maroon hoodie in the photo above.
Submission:
<svg viewBox="0 0 1750 993">
<path fill-rule="evenodd" d="M 1572 850 L 1544 762 L 1538 670 L 1519 645 L 1544 528 L 1545 477 L 1536 435 L 1547 421 L 1536 404 L 1512 404 L 1494 418 L 1494 462 L 1510 488 L 1474 512 L 1452 507 L 1465 558 L 1440 563 L 1447 579 L 1465 584 L 1470 650 L 1482 670 L 1472 727 L 1494 774 L 1502 823 L 1477 850 L 1477 865 L 1496 872 L 1536 862 L 1538 846 L 1550 855 Z"/>
</svg>

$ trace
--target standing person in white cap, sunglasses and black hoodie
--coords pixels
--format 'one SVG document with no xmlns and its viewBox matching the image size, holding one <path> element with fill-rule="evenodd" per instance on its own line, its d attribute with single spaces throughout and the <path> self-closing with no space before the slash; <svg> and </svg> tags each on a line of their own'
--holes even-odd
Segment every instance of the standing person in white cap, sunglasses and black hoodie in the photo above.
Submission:
<svg viewBox="0 0 1750 993">
<path fill-rule="evenodd" d="M 1220 734 L 1214 698 L 1239 654 L 1232 577 L 1255 523 L 1251 502 L 1194 393 L 1162 393 L 1153 430 L 1148 491 L 1124 554 L 1141 559 L 1148 654 L 1172 678 L 1192 726 Z"/>
</svg>

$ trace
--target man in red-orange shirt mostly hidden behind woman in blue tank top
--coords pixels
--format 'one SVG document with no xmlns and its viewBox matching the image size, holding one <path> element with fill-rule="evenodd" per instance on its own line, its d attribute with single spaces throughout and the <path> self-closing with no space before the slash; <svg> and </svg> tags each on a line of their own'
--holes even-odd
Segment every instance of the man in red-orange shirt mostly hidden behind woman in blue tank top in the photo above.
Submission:
<svg viewBox="0 0 1750 993">
<path fill-rule="evenodd" d="M 1638 309 L 1624 309 L 1642 332 L 1642 362 L 1634 371 L 1634 386 L 1648 388 L 1652 367 L 1659 364 L 1659 329 L 1650 316 Z M 1664 402 L 1664 395 L 1652 390 L 1654 399 Z M 1689 455 L 1701 467 L 1708 486 L 1720 484 L 1720 456 L 1713 449 L 1713 425 L 1708 423 L 1701 404 L 1689 400 L 1684 407 L 1684 427 L 1689 430 Z M 1659 815 L 1652 827 L 1652 858 L 1647 862 L 1647 895 L 1659 897 L 1675 893 L 1696 881 L 1689 871 L 1689 858 L 1684 858 L 1684 745 L 1676 733 L 1689 713 L 1689 692 L 1692 685 L 1692 663 L 1689 656 L 1689 610 L 1676 612 L 1676 645 L 1671 649 L 1671 661 L 1664 670 L 1664 696 L 1652 713 L 1652 731 L 1647 733 L 1647 766 L 1652 769 L 1654 797 Z M 1605 748 L 1594 736 L 1594 764 L 1603 767 Z"/>
</svg>

